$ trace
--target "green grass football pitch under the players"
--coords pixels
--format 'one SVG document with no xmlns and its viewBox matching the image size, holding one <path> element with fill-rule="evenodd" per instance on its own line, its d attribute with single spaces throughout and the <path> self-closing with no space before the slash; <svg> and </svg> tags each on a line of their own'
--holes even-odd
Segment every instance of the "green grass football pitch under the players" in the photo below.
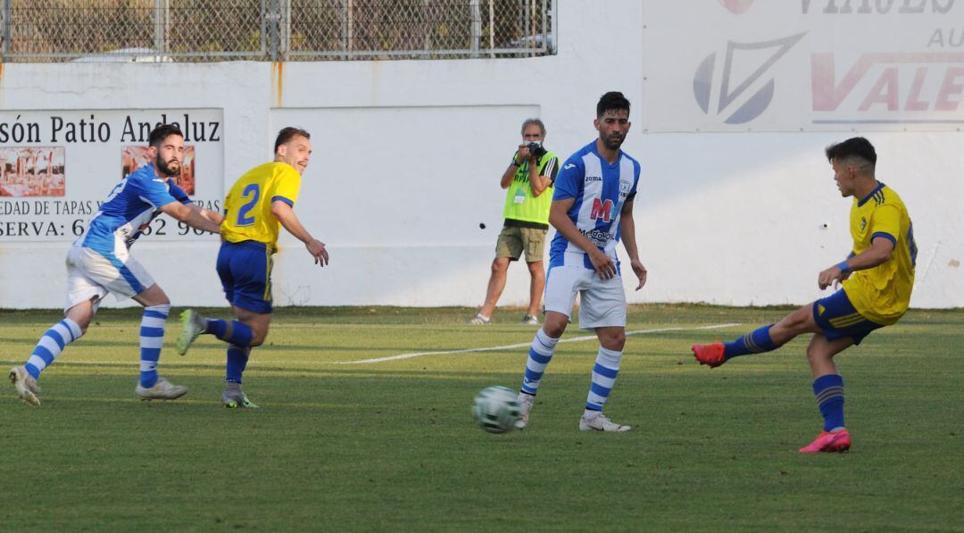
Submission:
<svg viewBox="0 0 964 533">
<path fill-rule="evenodd" d="M 472 397 L 517 388 L 525 348 L 336 362 L 527 343 L 521 310 L 281 308 L 245 374 L 262 409 L 239 411 L 218 402 L 224 345 L 176 356 L 174 318 L 160 369 L 191 391 L 136 400 L 140 313 L 107 309 L 44 372 L 42 407 L 0 389 L 0 529 L 964 530 L 964 310 L 911 311 L 837 358 L 853 449 L 819 456 L 796 451 L 821 426 L 805 339 L 713 370 L 688 353 L 787 310 L 632 306 L 629 331 L 665 331 L 629 336 L 606 412 L 631 432 L 577 430 L 597 347 L 579 341 L 529 428 L 490 435 Z M 4 375 L 59 318 L 0 311 Z"/>
</svg>

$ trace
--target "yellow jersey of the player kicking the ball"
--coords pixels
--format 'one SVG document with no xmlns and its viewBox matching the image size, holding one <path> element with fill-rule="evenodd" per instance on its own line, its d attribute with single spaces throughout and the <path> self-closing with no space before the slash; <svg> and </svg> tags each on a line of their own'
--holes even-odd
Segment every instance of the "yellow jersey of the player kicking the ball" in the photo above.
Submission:
<svg viewBox="0 0 964 533">
<path fill-rule="evenodd" d="M 894 243 L 887 261 L 858 270 L 844 281 L 847 298 L 861 315 L 877 324 L 894 324 L 910 305 L 914 288 L 917 243 L 907 208 L 897 193 L 881 183 L 864 199 L 853 200 L 850 235 L 854 254 L 870 248 L 876 237 Z"/>
</svg>

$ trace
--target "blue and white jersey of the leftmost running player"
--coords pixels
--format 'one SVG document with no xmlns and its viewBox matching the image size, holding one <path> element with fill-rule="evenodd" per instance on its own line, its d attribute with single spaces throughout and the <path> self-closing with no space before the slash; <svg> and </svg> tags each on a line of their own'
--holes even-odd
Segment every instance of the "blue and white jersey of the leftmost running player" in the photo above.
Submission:
<svg viewBox="0 0 964 533">
<path fill-rule="evenodd" d="M 120 180 L 87 227 L 81 246 L 99 253 L 115 253 L 122 245 L 130 248 L 161 206 L 173 201 L 191 203 L 170 180 L 158 177 L 152 165 L 145 165 Z"/>
</svg>

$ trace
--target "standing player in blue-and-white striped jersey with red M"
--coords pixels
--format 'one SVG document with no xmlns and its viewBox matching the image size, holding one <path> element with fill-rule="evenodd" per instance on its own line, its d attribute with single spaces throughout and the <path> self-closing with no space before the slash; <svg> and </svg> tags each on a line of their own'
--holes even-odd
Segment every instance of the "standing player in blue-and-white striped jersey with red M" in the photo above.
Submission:
<svg viewBox="0 0 964 533">
<path fill-rule="evenodd" d="M 603 415 L 626 345 L 626 293 L 616 257 L 616 244 L 621 239 L 639 280 L 636 290 L 646 283 L 632 219 L 639 163 L 620 149 L 631 125 L 629 100 L 623 93 L 603 94 L 596 106 L 594 125 L 599 138 L 573 154 L 555 180 L 549 224 L 557 233 L 549 248 L 546 320 L 532 340 L 525 363 L 519 393 L 521 417 L 516 423 L 520 429 L 528 425 L 539 383 L 569 324 L 576 294 L 581 295 L 579 328 L 595 331 L 600 340 L 579 429 L 630 429 Z"/>
</svg>

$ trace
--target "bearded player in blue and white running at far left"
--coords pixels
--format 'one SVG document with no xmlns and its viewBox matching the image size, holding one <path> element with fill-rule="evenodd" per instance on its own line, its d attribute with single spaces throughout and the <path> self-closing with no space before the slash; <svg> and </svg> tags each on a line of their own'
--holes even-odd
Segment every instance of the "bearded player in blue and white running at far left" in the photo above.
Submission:
<svg viewBox="0 0 964 533">
<path fill-rule="evenodd" d="M 171 301 L 147 270 L 130 256 L 130 247 L 155 217 L 174 219 L 212 233 L 220 232 L 220 213 L 207 211 L 188 199 L 171 178 L 180 173 L 184 135 L 177 126 L 162 124 L 148 137 L 149 164 L 137 169 L 111 191 L 84 235 L 67 252 L 65 317 L 40 337 L 30 359 L 10 371 L 17 395 L 40 406 L 37 380 L 67 344 L 87 332 L 94 313 L 108 293 L 132 298 L 144 306 L 141 319 L 141 378 L 134 388 L 143 400 L 173 400 L 187 392 L 157 375 L 164 342 L 164 325 Z"/>
</svg>

